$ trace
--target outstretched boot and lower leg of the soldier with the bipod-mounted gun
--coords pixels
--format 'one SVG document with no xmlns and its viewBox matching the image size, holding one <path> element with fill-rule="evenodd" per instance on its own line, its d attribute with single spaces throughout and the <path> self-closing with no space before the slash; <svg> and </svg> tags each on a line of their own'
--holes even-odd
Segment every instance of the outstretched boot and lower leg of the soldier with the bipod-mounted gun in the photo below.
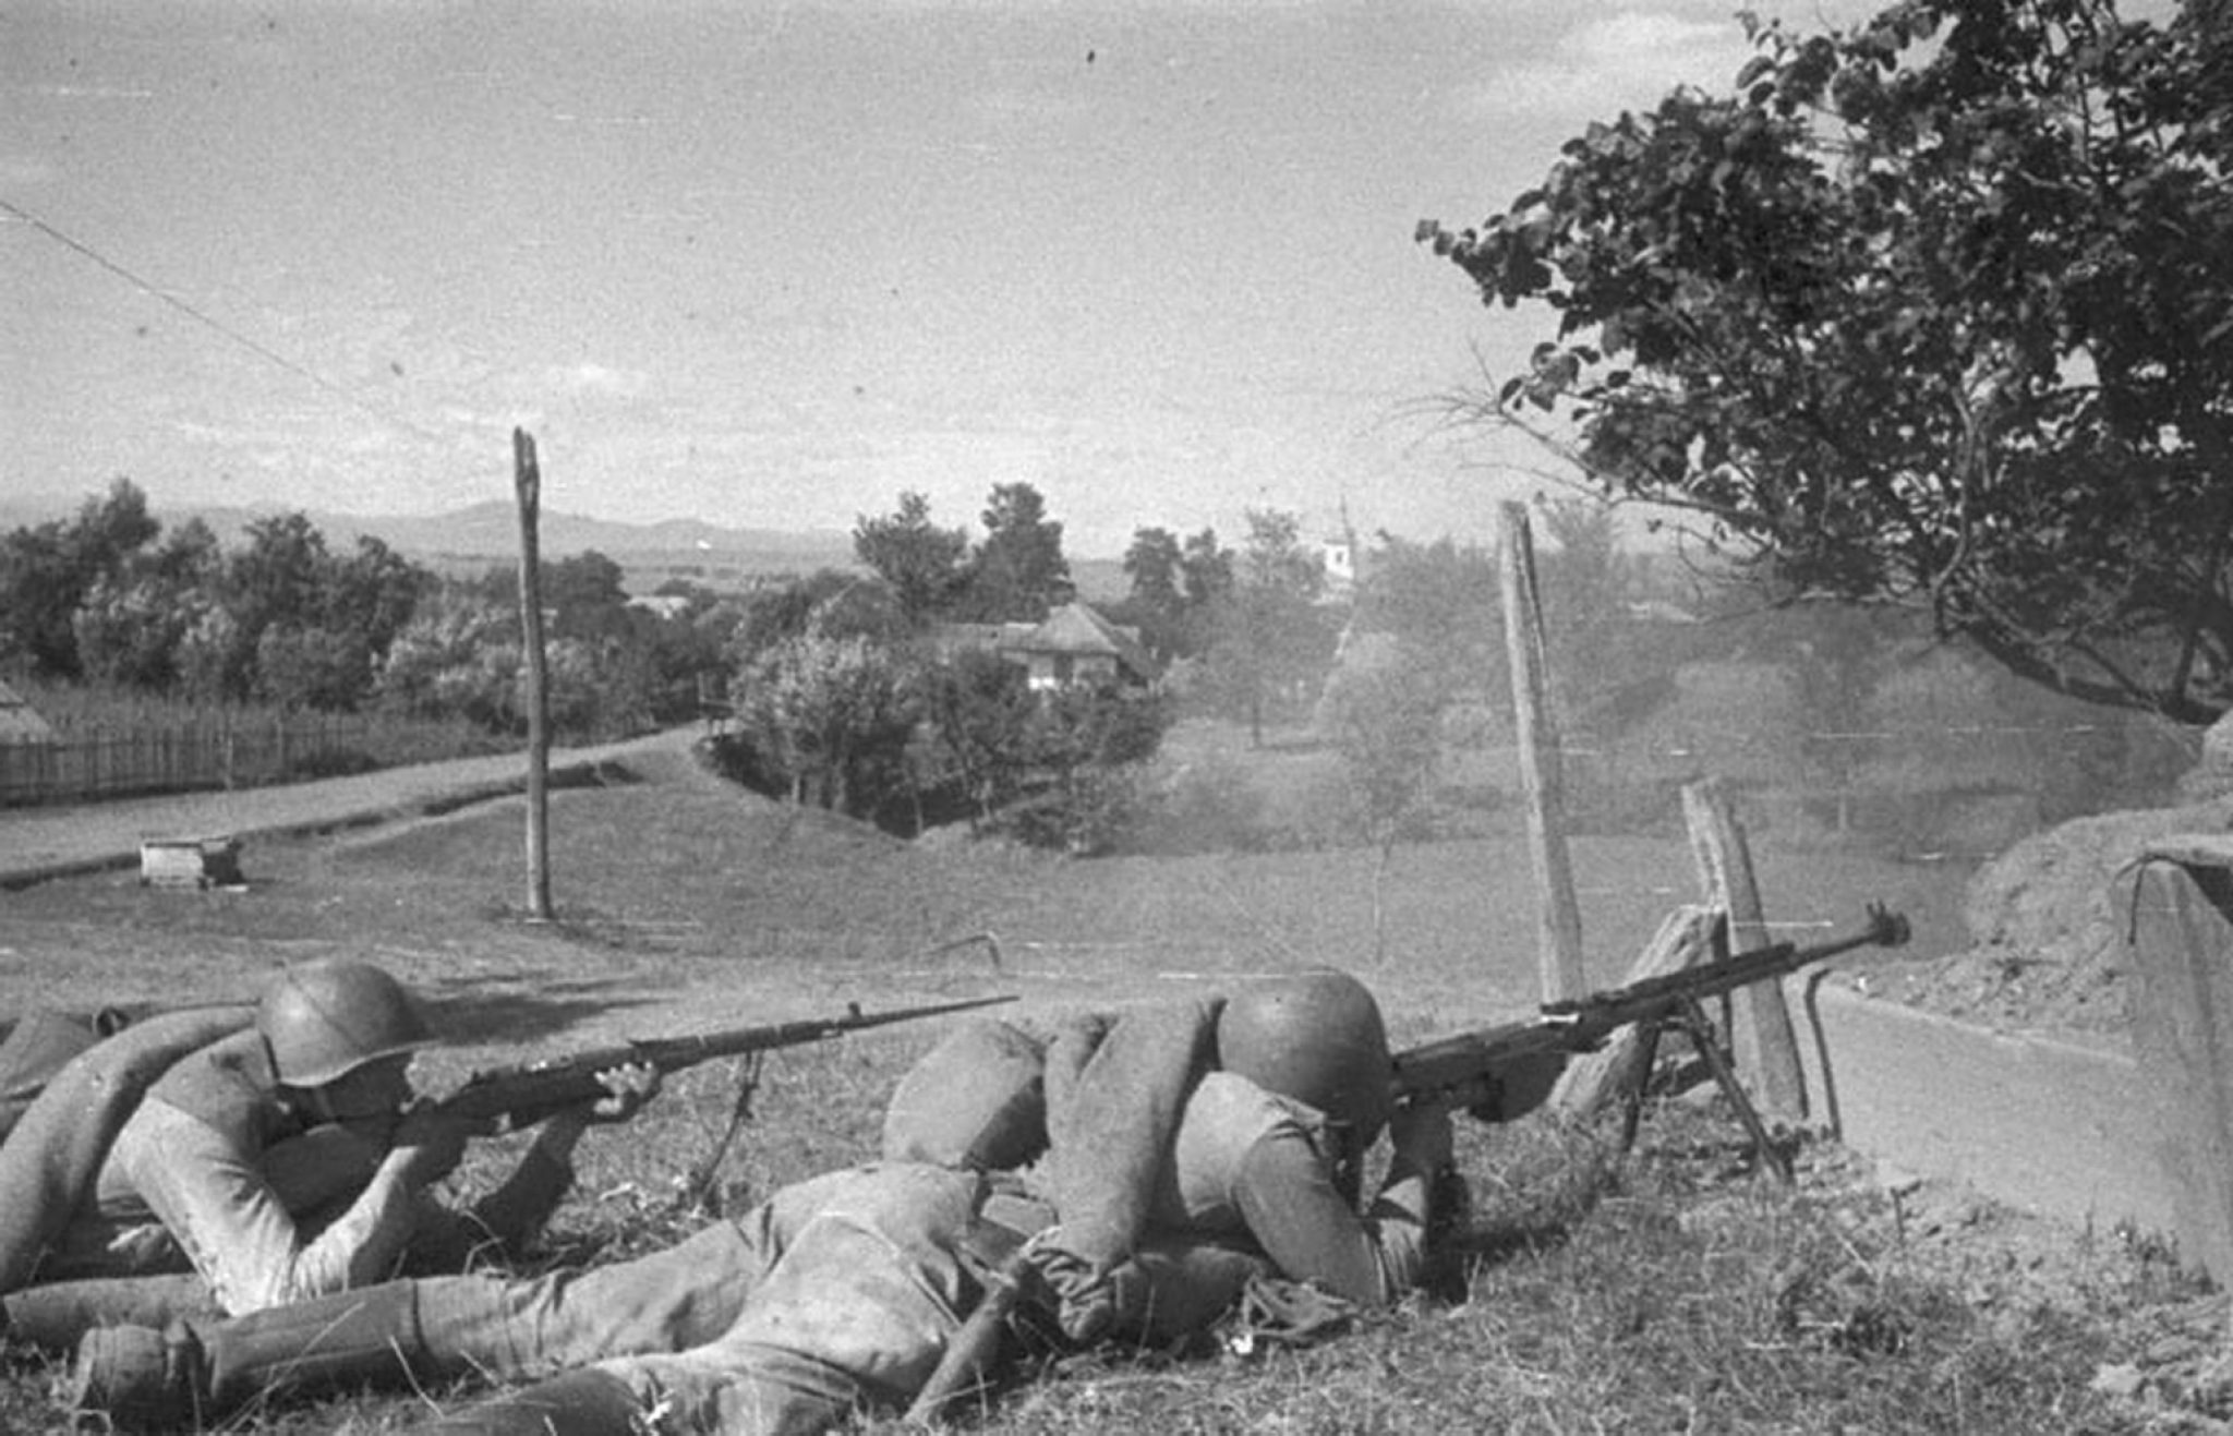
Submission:
<svg viewBox="0 0 2233 1436">
<path fill-rule="evenodd" d="M 415 1282 L 386 1282 L 221 1322 L 100 1327 L 78 1342 L 71 1400 L 118 1427 L 205 1423 L 250 1400 L 449 1376 Z"/>
</svg>

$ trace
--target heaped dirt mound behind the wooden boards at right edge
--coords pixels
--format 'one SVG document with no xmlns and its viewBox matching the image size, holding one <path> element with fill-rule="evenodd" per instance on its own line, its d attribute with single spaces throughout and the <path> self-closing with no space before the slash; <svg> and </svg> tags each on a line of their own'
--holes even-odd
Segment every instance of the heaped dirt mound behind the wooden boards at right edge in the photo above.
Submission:
<svg viewBox="0 0 2233 1436">
<path fill-rule="evenodd" d="M 2233 831 L 2233 795 L 2079 817 L 2016 842 L 1970 882 L 1970 947 L 1889 996 L 1996 1030 L 2121 1038 L 2133 864 L 2150 842 Z"/>
</svg>

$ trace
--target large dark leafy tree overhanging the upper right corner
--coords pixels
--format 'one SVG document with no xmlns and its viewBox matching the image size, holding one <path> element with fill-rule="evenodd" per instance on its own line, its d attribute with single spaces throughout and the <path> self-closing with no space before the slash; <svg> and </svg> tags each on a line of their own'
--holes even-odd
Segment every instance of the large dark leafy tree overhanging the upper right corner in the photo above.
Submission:
<svg viewBox="0 0 2233 1436">
<path fill-rule="evenodd" d="M 1894 601 L 2010 670 L 2233 703 L 2233 42 L 2110 0 L 1907 0 L 1568 141 L 1480 228 L 1541 304 L 1483 404 L 1777 594 Z"/>
</svg>

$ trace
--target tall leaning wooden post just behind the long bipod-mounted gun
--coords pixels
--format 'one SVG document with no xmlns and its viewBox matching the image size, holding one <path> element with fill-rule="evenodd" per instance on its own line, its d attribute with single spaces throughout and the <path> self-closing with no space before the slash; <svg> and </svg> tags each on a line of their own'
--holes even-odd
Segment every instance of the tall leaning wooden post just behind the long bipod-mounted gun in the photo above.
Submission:
<svg viewBox="0 0 2233 1436">
<path fill-rule="evenodd" d="M 1505 601 L 1505 650 L 1512 663 L 1512 721 L 1521 746 L 1521 786 L 1527 795 L 1527 846 L 1536 871 L 1536 960 L 1543 1001 L 1588 994 L 1581 967 L 1581 907 L 1574 864 L 1565 851 L 1565 793 L 1559 775 L 1559 724 L 1550 712 L 1550 648 L 1543 639 L 1543 601 L 1536 592 L 1534 540 L 1527 505 L 1503 505 L 1498 576 Z"/>
</svg>

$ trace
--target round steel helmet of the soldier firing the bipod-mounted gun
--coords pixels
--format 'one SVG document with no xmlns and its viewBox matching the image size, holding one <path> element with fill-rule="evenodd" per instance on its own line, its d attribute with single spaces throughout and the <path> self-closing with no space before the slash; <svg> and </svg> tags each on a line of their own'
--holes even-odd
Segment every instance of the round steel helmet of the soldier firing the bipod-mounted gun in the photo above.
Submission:
<svg viewBox="0 0 2233 1436">
<path fill-rule="evenodd" d="M 1380 1003 L 1333 967 L 1266 978 L 1217 1016 L 1217 1065 L 1344 1123 L 1358 1146 L 1387 1126 L 1396 1063 Z"/>
</svg>

